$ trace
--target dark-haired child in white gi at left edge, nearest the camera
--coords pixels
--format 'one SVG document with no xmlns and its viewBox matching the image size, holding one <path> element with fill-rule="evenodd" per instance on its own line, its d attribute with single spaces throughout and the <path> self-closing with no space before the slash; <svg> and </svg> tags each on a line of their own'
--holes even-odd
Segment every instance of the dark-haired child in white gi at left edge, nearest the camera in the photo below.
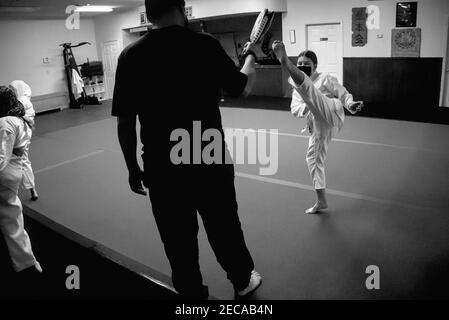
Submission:
<svg viewBox="0 0 449 320">
<path fill-rule="evenodd" d="M 14 270 L 30 267 L 42 272 L 24 229 L 22 204 L 18 197 L 23 176 L 23 152 L 30 142 L 31 125 L 12 88 L 0 86 L 0 228 Z"/>
</svg>

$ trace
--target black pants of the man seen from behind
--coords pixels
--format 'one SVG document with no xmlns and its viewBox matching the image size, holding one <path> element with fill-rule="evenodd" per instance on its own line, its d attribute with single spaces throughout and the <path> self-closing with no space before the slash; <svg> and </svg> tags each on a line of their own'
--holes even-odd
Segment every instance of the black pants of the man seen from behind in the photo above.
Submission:
<svg viewBox="0 0 449 320">
<path fill-rule="evenodd" d="M 228 279 L 235 290 L 244 289 L 254 263 L 237 213 L 233 166 L 151 169 L 145 168 L 145 184 L 178 293 L 193 299 L 208 297 L 198 263 L 197 213 Z"/>
</svg>

